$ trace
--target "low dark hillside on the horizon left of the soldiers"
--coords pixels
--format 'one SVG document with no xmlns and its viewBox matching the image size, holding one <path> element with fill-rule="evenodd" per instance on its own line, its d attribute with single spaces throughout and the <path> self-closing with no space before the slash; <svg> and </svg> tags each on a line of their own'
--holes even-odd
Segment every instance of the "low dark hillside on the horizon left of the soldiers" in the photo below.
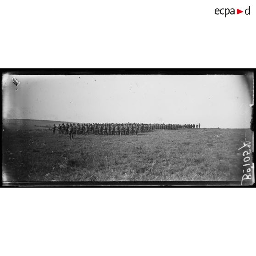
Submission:
<svg viewBox="0 0 256 256">
<path fill-rule="evenodd" d="M 34 119 L 3 119 L 3 127 L 14 130 L 48 129 L 63 121 L 34 120 Z M 67 122 L 64 122 L 67 123 Z"/>
</svg>

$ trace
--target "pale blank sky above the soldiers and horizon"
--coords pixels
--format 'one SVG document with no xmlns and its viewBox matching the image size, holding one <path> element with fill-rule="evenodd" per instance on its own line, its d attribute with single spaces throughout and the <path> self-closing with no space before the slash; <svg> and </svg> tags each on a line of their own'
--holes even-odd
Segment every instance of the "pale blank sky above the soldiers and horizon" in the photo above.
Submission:
<svg viewBox="0 0 256 256">
<path fill-rule="evenodd" d="M 239 75 L 4 74 L 2 88 L 8 119 L 250 127 L 251 95 Z"/>
</svg>

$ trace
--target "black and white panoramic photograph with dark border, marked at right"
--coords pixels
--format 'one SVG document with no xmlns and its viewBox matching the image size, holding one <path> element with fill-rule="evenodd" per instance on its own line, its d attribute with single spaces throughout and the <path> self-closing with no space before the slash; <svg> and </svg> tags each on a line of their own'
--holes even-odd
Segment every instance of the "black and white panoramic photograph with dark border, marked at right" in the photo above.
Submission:
<svg viewBox="0 0 256 256">
<path fill-rule="evenodd" d="M 252 71 L 98 73 L 2 74 L 3 185 L 253 184 Z"/>
</svg>

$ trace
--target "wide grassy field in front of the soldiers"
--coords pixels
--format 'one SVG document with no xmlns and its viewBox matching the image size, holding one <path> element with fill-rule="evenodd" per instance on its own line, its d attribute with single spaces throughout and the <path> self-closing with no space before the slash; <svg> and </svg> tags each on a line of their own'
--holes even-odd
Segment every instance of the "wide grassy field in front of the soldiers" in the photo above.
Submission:
<svg viewBox="0 0 256 256">
<path fill-rule="evenodd" d="M 8 181 L 240 181 L 245 129 L 155 130 L 132 136 L 3 133 Z M 53 151 L 53 153 L 38 153 Z"/>
</svg>

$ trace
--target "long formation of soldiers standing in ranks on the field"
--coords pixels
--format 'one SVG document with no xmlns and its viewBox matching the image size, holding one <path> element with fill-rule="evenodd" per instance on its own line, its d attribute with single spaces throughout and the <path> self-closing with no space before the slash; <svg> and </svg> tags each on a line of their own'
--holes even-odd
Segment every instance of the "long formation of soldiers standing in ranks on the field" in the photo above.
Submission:
<svg viewBox="0 0 256 256">
<path fill-rule="evenodd" d="M 200 128 L 199 124 L 165 124 L 165 123 L 64 123 L 59 124 L 58 134 L 69 134 L 73 138 L 73 134 L 89 135 L 137 135 L 141 132 L 151 132 L 154 129 L 177 130 L 185 128 Z M 55 134 L 56 126 L 53 125 L 53 134 Z"/>
</svg>

